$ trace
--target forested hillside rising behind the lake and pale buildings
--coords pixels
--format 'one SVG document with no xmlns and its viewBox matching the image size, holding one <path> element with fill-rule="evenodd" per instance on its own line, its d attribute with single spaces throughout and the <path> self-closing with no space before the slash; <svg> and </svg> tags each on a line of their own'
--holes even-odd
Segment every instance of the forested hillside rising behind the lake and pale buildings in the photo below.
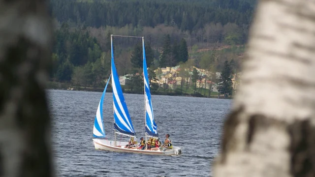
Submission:
<svg viewBox="0 0 315 177">
<path fill-rule="evenodd" d="M 185 52 L 193 65 L 238 69 L 255 0 L 51 0 L 57 22 L 51 79 L 98 87 L 109 76 L 110 34 L 144 36 L 152 69 L 174 66 Z M 118 73 L 135 73 L 140 39 L 114 38 Z M 166 44 L 167 43 L 167 44 Z M 221 47 L 228 50 L 220 50 Z M 230 48 L 230 49 L 229 49 Z M 168 55 L 162 53 L 169 51 Z M 142 49 L 141 49 L 142 51 Z M 206 52 L 205 52 L 206 51 Z M 140 52 L 140 51 L 138 51 Z M 148 55 L 147 55 L 148 56 Z M 182 57 L 183 58 L 183 57 Z"/>
</svg>

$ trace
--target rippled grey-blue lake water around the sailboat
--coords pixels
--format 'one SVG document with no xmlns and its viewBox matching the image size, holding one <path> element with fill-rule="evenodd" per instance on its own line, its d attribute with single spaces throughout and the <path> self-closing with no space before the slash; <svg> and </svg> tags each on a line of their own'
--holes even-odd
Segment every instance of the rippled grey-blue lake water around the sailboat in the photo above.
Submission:
<svg viewBox="0 0 315 177">
<path fill-rule="evenodd" d="M 166 133 L 180 156 L 96 150 L 93 125 L 101 92 L 48 90 L 53 116 L 55 169 L 59 177 L 210 177 L 231 100 L 153 95 L 160 138 Z M 144 96 L 125 94 L 137 136 L 144 135 Z M 113 139 L 112 93 L 104 99 L 104 126 Z M 118 139 L 120 139 L 119 137 Z M 127 138 L 122 138 L 127 140 Z"/>
</svg>

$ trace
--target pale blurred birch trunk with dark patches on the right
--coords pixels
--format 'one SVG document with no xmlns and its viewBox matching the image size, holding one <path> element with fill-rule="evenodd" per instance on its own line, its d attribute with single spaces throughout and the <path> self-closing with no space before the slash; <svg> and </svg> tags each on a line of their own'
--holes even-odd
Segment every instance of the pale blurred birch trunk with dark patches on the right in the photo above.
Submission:
<svg viewBox="0 0 315 177">
<path fill-rule="evenodd" d="M 215 177 L 315 176 L 315 1 L 260 0 Z"/>
</svg>

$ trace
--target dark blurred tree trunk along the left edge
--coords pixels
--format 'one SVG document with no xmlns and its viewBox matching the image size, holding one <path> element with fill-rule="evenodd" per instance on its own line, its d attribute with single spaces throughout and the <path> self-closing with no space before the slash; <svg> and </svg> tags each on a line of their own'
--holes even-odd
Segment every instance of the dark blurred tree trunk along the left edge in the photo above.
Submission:
<svg viewBox="0 0 315 177">
<path fill-rule="evenodd" d="M 0 0 L 0 177 L 52 177 L 45 0 Z"/>
</svg>

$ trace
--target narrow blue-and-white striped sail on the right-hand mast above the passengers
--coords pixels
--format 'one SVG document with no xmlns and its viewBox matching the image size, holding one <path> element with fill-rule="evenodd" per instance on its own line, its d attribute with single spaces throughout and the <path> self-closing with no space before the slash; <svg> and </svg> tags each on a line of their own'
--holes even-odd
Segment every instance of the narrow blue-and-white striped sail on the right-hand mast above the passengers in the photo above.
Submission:
<svg viewBox="0 0 315 177">
<path fill-rule="evenodd" d="M 147 70 L 147 61 L 146 61 L 146 53 L 144 50 L 144 41 L 142 41 L 143 48 L 143 80 L 144 80 L 144 89 L 145 89 L 145 108 L 146 108 L 146 132 L 150 136 L 158 137 L 157 124 L 154 121 L 153 107 L 151 102 L 151 93 L 150 93 L 150 85 L 148 78 L 148 70 Z"/>
</svg>

